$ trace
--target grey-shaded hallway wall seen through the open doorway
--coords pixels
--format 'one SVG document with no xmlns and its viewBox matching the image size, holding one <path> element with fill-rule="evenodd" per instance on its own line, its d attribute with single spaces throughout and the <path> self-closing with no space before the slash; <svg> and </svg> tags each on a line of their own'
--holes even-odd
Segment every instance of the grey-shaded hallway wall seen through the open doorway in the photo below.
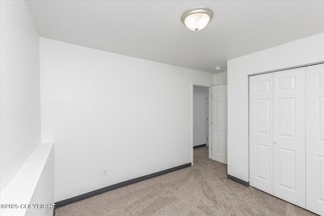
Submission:
<svg viewBox="0 0 324 216">
<path fill-rule="evenodd" d="M 193 86 L 193 146 L 207 144 L 206 91 L 207 87 Z"/>
</svg>

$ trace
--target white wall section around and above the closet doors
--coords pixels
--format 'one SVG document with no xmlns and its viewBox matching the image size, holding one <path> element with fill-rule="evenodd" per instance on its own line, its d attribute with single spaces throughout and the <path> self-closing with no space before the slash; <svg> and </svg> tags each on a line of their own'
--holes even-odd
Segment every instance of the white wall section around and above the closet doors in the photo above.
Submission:
<svg viewBox="0 0 324 216">
<path fill-rule="evenodd" d="M 229 175 L 249 181 L 248 75 L 320 61 L 324 61 L 324 33 L 227 62 Z"/>
</svg>

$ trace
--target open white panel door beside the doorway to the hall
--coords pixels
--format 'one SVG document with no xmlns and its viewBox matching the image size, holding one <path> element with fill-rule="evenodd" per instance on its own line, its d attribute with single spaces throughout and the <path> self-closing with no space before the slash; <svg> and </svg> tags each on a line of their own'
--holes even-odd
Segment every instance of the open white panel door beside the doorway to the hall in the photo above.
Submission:
<svg viewBox="0 0 324 216">
<path fill-rule="evenodd" d="M 227 164 L 227 85 L 212 87 L 212 159 Z"/>
</svg>

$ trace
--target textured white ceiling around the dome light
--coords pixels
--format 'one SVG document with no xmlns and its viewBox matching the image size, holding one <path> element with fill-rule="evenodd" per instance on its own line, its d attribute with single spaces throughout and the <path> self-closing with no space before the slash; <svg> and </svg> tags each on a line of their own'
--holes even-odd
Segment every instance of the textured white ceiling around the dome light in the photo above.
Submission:
<svg viewBox="0 0 324 216">
<path fill-rule="evenodd" d="M 39 36 L 215 73 L 226 61 L 324 32 L 324 1 L 27 1 Z M 181 15 L 214 12 L 191 31 Z M 302 52 L 302 51 L 301 51 Z M 218 71 L 220 72 L 220 71 Z"/>
</svg>

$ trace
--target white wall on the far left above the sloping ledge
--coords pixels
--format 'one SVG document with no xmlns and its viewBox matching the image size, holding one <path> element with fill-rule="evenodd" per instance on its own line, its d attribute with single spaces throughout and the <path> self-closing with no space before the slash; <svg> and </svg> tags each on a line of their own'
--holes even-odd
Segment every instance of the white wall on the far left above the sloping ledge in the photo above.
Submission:
<svg viewBox="0 0 324 216">
<path fill-rule="evenodd" d="M 38 33 L 25 1 L 0 1 L 1 192 L 41 143 Z"/>
</svg>

